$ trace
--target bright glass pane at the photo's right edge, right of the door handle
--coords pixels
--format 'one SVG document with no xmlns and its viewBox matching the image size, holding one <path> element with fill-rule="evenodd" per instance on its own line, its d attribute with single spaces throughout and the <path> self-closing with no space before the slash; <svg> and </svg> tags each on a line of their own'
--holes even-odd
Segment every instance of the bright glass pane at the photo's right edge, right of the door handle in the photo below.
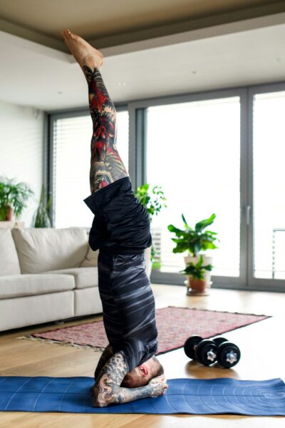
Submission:
<svg viewBox="0 0 285 428">
<path fill-rule="evenodd" d="M 254 96 L 254 277 L 285 279 L 285 91 Z"/>
</svg>

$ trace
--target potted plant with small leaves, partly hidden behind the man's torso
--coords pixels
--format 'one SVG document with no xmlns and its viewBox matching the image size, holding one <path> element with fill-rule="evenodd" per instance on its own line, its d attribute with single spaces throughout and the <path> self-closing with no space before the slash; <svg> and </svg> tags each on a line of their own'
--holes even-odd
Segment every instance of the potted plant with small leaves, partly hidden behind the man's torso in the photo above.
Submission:
<svg viewBox="0 0 285 428">
<path fill-rule="evenodd" d="M 167 205 L 165 204 L 165 201 L 166 201 L 165 194 L 162 191 L 162 187 L 160 185 L 155 185 L 150 190 L 150 185 L 148 183 L 145 183 L 141 186 L 138 186 L 135 189 L 134 193 L 135 193 L 135 198 L 140 200 L 140 203 L 142 203 L 145 210 L 147 211 L 150 221 L 152 221 L 152 218 L 155 215 L 158 215 L 160 213 L 162 207 L 165 207 L 165 208 L 167 207 Z M 161 262 L 160 262 L 160 259 L 157 260 L 155 243 L 152 242 L 152 246 L 150 250 L 147 249 L 147 251 L 150 251 L 149 264 L 146 259 L 147 272 L 149 273 L 149 276 L 150 276 L 151 269 L 152 268 L 159 269 Z"/>
</svg>

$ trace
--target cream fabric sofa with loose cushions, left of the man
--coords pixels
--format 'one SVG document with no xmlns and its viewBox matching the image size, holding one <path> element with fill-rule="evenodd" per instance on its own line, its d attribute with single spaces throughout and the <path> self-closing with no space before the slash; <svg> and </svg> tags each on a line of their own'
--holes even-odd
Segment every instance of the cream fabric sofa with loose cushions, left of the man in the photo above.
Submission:
<svg viewBox="0 0 285 428">
<path fill-rule="evenodd" d="M 84 228 L 0 228 L 0 331 L 102 312 L 97 258 Z"/>
</svg>

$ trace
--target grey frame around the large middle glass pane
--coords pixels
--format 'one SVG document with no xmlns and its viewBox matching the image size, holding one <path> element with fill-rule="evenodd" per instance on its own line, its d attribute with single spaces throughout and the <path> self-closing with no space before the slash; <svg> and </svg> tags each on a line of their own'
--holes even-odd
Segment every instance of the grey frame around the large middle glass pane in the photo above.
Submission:
<svg viewBox="0 0 285 428">
<path fill-rule="evenodd" d="M 130 141 L 135 141 L 135 145 L 130 144 L 130 159 L 133 159 L 136 170 L 135 180 L 133 180 L 133 188 L 142 183 L 147 183 L 147 168 L 146 168 L 146 153 L 147 153 L 147 119 L 146 112 L 150 106 L 162 106 L 165 104 L 187 103 L 192 101 L 206 101 L 210 99 L 229 98 L 239 96 L 240 100 L 240 168 L 242 180 L 240 183 L 240 275 L 239 277 L 223 277 L 212 275 L 213 287 L 225 288 L 241 288 L 247 287 L 247 227 L 245 224 L 246 207 L 248 200 L 247 189 L 247 128 L 248 128 L 248 114 L 247 114 L 247 88 L 226 88 L 214 91 L 204 91 L 199 93 L 190 93 L 180 96 L 167 96 L 162 98 L 150 98 L 142 101 L 134 101 L 128 103 L 130 112 Z M 142 132 L 138 136 L 138 129 Z M 143 162 L 141 162 L 142 160 Z M 140 164 L 140 168 L 138 165 Z M 157 272 L 152 270 L 152 282 L 164 284 L 177 284 L 184 285 L 185 277 L 176 272 Z"/>
</svg>

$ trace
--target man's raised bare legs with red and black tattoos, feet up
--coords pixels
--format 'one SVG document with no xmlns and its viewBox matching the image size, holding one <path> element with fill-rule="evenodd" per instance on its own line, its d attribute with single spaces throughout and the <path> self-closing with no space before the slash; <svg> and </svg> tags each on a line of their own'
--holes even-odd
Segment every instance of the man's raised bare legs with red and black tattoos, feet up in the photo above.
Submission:
<svg viewBox="0 0 285 428">
<path fill-rule="evenodd" d="M 89 173 L 90 191 L 93 193 L 113 181 L 128 176 L 128 171 L 116 147 L 115 106 L 99 71 L 103 55 L 69 29 L 64 30 L 62 34 L 88 83 L 90 115 L 93 121 Z"/>
</svg>

